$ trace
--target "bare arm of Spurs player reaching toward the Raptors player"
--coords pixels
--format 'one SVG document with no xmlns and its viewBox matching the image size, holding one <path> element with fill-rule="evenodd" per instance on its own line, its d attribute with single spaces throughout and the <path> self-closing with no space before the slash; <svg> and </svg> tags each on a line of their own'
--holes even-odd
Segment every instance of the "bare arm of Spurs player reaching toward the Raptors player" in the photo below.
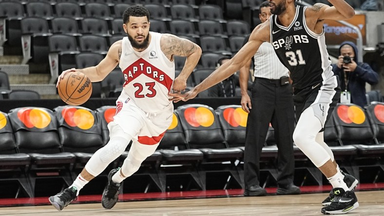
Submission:
<svg viewBox="0 0 384 216">
<path fill-rule="evenodd" d="M 196 95 L 201 91 L 207 90 L 220 81 L 230 77 L 230 75 L 238 71 L 247 63 L 247 61 L 257 52 L 263 42 L 270 42 L 269 31 L 269 22 L 264 22 L 263 24 L 258 25 L 252 31 L 248 43 L 246 43 L 229 61 L 221 65 L 199 85 L 195 86 L 192 90 L 186 92 L 185 94 L 170 93 L 170 96 L 173 96 L 173 99 L 171 100 L 174 102 L 178 102 L 180 100 L 187 101 L 196 97 Z"/>
</svg>

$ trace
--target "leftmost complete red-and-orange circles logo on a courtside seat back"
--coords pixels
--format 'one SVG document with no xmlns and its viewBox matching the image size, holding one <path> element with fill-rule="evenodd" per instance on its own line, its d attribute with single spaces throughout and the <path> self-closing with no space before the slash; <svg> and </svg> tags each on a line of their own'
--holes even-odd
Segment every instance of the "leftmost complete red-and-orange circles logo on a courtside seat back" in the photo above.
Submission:
<svg viewBox="0 0 384 216">
<path fill-rule="evenodd" d="M 40 108 L 21 108 L 18 111 L 18 118 L 28 128 L 41 129 L 51 123 L 51 115 Z"/>
</svg>

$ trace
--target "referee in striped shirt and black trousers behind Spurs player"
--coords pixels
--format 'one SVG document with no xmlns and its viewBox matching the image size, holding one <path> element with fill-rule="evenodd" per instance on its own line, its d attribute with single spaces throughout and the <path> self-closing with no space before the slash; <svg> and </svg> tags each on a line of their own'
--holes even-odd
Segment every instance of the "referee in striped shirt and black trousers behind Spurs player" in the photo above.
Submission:
<svg viewBox="0 0 384 216">
<path fill-rule="evenodd" d="M 260 5 L 259 18 L 265 22 L 270 17 L 269 1 Z M 244 40 L 246 44 L 250 36 Z M 247 92 L 251 60 L 254 61 L 252 98 Z M 293 184 L 293 130 L 294 107 L 288 69 L 278 59 L 270 43 L 264 42 L 253 59 L 240 69 L 241 106 L 248 112 L 244 152 L 244 196 L 265 196 L 260 187 L 260 156 L 265 144 L 269 123 L 274 128 L 278 147 L 277 194 L 300 194 Z"/>
</svg>

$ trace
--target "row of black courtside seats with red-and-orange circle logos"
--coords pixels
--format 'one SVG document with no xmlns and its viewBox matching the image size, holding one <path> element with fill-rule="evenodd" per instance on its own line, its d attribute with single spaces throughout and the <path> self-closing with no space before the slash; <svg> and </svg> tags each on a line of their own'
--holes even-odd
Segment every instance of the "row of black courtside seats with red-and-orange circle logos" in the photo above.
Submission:
<svg viewBox="0 0 384 216">
<path fill-rule="evenodd" d="M 367 166 L 360 161 L 375 161 L 370 166 L 384 165 L 381 160 L 384 154 L 383 112 L 384 103 L 372 103 L 366 110 L 353 104 L 338 104 L 326 125 L 325 141 L 340 167 L 358 179 L 359 170 Z M 53 111 L 26 107 L 0 112 L 0 172 L 21 170 L 17 178 L 2 175 L 0 180 L 17 180 L 30 197 L 34 196 L 37 179 L 56 176 L 64 180 L 64 187 L 68 186 L 92 154 L 107 144 L 107 124 L 114 115 L 115 106 L 95 111 L 62 106 Z M 247 113 L 240 106 L 222 106 L 216 110 L 200 104 L 178 107 L 158 150 L 143 163 L 137 175 L 149 175 L 159 191 L 166 190 L 167 175 L 187 174 L 200 190 L 205 190 L 207 173 L 217 172 L 228 173 L 232 181 L 243 187 L 246 124 Z M 126 150 L 102 175 L 121 165 L 129 147 Z M 296 146 L 294 151 L 296 168 L 307 169 L 308 175 L 321 185 L 320 171 Z M 270 127 L 262 161 L 266 162 L 263 167 L 272 177 L 276 173 L 276 156 L 277 147 Z M 302 161 L 307 162 L 305 167 L 298 165 Z M 174 165 L 177 168 L 173 168 Z M 47 175 L 48 170 L 51 175 Z M 308 178 L 303 178 L 301 185 Z"/>
</svg>

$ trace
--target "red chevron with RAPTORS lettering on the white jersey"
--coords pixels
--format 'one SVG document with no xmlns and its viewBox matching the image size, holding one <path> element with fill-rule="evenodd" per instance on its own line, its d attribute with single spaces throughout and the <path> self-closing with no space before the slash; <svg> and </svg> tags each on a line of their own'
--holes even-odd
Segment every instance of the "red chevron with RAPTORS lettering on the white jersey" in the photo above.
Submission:
<svg viewBox="0 0 384 216">
<path fill-rule="evenodd" d="M 126 68 L 123 73 L 125 80 L 123 87 L 128 85 L 140 75 L 148 76 L 149 78 L 164 85 L 168 90 L 171 89 L 173 82 L 171 77 L 169 77 L 165 72 L 154 67 L 151 63 L 147 62 L 142 58 L 139 58 L 137 61 L 128 66 L 128 68 Z"/>
</svg>

